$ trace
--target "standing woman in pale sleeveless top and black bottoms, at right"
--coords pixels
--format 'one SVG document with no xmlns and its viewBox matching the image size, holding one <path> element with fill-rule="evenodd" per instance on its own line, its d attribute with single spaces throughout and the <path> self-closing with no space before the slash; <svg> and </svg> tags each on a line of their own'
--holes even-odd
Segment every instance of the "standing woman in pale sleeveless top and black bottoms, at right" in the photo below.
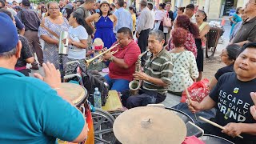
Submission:
<svg viewBox="0 0 256 144">
<path fill-rule="evenodd" d="M 210 26 L 206 22 L 207 15 L 206 15 L 205 11 L 203 11 L 203 10 L 198 10 L 198 12 L 195 14 L 195 20 L 196 20 L 198 28 L 199 28 L 199 35 L 198 35 L 198 37 L 195 37 L 195 44 L 198 49 L 198 55 L 197 55 L 196 59 L 197 59 L 199 77 L 198 77 L 197 81 L 201 81 L 202 71 L 203 71 L 202 42 L 206 43 L 206 34 L 209 32 Z"/>
</svg>

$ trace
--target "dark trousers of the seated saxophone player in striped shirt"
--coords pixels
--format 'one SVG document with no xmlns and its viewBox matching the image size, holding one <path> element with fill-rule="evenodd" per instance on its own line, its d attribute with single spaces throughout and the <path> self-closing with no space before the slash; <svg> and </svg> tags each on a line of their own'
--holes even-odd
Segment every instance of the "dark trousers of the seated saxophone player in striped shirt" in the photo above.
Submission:
<svg viewBox="0 0 256 144">
<path fill-rule="evenodd" d="M 148 104 L 160 103 L 166 99 L 166 95 L 159 94 L 150 90 L 139 90 L 138 95 L 130 96 L 126 100 L 126 107 L 128 109 L 146 106 Z"/>
</svg>

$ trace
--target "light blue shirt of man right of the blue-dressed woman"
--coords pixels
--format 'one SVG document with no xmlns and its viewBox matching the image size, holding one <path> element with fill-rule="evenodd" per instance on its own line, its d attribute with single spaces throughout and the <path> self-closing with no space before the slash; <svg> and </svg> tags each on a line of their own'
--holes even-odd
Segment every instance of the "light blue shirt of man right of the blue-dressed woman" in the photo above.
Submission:
<svg viewBox="0 0 256 144">
<path fill-rule="evenodd" d="M 114 33 L 117 33 L 117 31 L 122 27 L 128 27 L 133 31 L 133 18 L 131 18 L 129 11 L 120 7 L 114 12 L 114 15 L 118 18 L 117 25 L 114 27 Z"/>
</svg>

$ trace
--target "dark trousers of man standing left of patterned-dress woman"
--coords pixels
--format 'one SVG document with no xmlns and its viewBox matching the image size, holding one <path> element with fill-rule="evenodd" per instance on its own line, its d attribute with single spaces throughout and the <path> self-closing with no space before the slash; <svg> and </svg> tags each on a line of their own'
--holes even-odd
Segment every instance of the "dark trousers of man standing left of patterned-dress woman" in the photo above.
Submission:
<svg viewBox="0 0 256 144">
<path fill-rule="evenodd" d="M 41 48 L 39 38 L 38 38 L 38 31 L 27 30 L 27 31 L 25 31 L 24 36 L 26 37 L 26 39 L 29 42 L 30 50 L 32 50 L 33 54 L 34 54 L 34 52 L 37 54 L 38 62 L 40 64 L 42 64 L 43 54 L 42 54 L 42 48 Z M 35 57 L 34 57 L 34 62 L 32 63 L 32 66 L 37 66 L 38 62 L 36 62 Z"/>
</svg>

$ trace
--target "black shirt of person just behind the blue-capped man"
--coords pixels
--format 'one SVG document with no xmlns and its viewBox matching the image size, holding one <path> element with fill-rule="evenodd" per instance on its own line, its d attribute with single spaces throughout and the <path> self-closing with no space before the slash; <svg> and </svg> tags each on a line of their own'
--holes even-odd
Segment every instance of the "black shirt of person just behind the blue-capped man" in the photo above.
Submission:
<svg viewBox="0 0 256 144">
<path fill-rule="evenodd" d="M 19 40 L 22 42 L 22 52 L 21 57 L 18 58 L 18 61 L 15 67 L 26 66 L 26 58 L 33 57 L 32 51 L 30 50 L 30 45 L 27 39 L 21 35 L 18 35 Z"/>
</svg>

